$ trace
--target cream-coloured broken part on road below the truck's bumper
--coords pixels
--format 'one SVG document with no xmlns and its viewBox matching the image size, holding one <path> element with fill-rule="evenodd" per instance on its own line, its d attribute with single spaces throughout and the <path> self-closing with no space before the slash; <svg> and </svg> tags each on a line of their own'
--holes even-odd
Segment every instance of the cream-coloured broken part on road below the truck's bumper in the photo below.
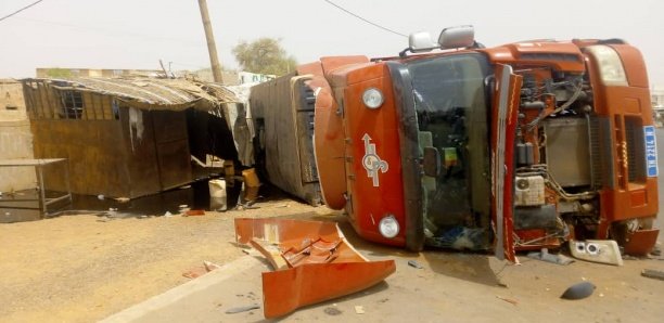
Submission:
<svg viewBox="0 0 664 323">
<path fill-rule="evenodd" d="M 623 266 L 621 249 L 613 240 L 570 241 L 572 257 L 580 260 Z"/>
</svg>

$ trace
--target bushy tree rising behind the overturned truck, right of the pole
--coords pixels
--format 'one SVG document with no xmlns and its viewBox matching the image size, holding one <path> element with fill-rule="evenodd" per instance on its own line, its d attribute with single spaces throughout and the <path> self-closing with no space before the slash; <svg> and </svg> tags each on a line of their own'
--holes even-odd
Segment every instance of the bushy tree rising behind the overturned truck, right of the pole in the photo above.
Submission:
<svg viewBox="0 0 664 323">
<path fill-rule="evenodd" d="M 235 60 L 245 72 L 284 75 L 295 70 L 297 61 L 281 48 L 281 39 L 259 38 L 247 42 L 242 40 L 232 49 Z"/>
</svg>

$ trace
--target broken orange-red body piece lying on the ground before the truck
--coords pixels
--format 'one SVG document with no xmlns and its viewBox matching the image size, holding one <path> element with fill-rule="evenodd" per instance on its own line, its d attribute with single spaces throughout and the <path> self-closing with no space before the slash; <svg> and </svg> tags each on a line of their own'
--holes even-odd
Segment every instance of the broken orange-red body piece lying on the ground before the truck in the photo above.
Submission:
<svg viewBox="0 0 664 323">
<path fill-rule="evenodd" d="M 263 273 L 267 319 L 366 289 L 396 271 L 394 260 L 365 258 L 334 222 L 237 218 L 235 238 L 252 244 L 274 268 Z"/>
</svg>

